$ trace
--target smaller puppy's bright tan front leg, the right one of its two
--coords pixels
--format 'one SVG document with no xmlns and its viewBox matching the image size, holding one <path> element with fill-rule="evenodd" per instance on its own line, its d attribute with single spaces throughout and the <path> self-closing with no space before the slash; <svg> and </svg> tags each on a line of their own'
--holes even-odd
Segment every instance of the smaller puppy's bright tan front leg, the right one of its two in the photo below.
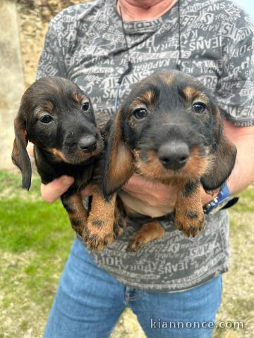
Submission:
<svg viewBox="0 0 254 338">
<path fill-rule="evenodd" d="M 89 249 L 102 250 L 113 241 L 115 205 L 116 194 L 107 201 L 99 188 L 94 187 L 91 210 L 83 230 L 83 240 Z"/>
</svg>

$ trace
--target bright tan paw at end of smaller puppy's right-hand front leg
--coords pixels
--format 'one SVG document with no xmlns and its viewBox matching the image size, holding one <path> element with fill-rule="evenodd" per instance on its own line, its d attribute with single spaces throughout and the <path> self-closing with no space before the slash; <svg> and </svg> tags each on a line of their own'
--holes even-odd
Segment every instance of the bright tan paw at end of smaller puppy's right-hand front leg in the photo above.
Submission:
<svg viewBox="0 0 254 338">
<path fill-rule="evenodd" d="M 108 220 L 99 220 L 89 217 L 82 237 L 88 249 L 95 251 L 102 250 L 105 246 L 113 242 L 113 224 Z"/>
</svg>

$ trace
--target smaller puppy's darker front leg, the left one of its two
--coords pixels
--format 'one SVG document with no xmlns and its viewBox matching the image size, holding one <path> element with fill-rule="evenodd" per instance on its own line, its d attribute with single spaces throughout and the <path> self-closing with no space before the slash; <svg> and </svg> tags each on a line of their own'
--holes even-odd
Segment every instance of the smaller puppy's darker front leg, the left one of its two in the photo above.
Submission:
<svg viewBox="0 0 254 338">
<path fill-rule="evenodd" d="M 82 196 L 79 193 L 72 194 L 70 196 L 63 194 L 61 196 L 61 201 L 68 213 L 71 226 L 75 232 L 78 232 L 78 234 L 82 236 L 88 216 L 88 212 L 82 203 Z"/>
</svg>

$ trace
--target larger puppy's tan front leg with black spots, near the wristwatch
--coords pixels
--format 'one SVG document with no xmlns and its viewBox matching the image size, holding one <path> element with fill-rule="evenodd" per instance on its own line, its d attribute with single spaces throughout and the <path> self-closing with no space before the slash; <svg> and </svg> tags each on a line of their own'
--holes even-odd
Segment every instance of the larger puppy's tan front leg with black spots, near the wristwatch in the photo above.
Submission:
<svg viewBox="0 0 254 338">
<path fill-rule="evenodd" d="M 200 196 L 200 182 L 186 183 L 180 189 L 175 206 L 174 223 L 186 236 L 195 237 L 205 224 Z"/>
</svg>

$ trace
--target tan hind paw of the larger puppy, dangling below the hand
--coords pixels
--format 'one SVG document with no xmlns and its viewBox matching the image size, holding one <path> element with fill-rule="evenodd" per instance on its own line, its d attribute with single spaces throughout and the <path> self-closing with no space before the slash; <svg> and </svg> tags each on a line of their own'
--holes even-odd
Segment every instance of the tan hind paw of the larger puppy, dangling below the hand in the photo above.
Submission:
<svg viewBox="0 0 254 338">
<path fill-rule="evenodd" d="M 131 238 L 127 246 L 127 251 L 138 251 L 145 246 L 145 244 L 162 237 L 164 232 L 164 228 L 157 220 L 145 223 Z"/>
</svg>

